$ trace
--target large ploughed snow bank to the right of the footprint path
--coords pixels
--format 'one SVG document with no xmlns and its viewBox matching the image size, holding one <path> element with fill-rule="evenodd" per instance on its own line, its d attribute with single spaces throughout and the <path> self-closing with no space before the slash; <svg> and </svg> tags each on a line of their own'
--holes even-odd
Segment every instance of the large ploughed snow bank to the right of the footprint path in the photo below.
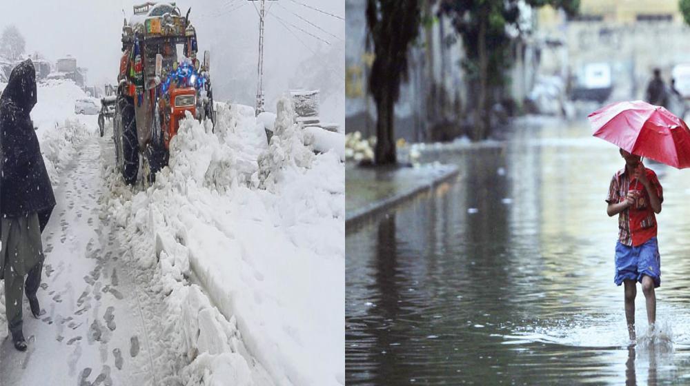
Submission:
<svg viewBox="0 0 690 386">
<path fill-rule="evenodd" d="M 108 203 L 161 274 L 185 384 L 344 385 L 344 165 L 304 145 L 289 99 L 274 129 L 267 146 L 242 105 L 215 132 L 188 117 L 155 185 Z"/>
</svg>

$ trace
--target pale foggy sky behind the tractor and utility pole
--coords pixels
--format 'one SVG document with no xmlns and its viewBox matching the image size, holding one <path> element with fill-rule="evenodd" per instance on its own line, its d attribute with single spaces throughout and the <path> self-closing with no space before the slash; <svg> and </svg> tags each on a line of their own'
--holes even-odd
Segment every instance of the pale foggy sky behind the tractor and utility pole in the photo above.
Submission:
<svg viewBox="0 0 690 386">
<path fill-rule="evenodd" d="M 129 18 L 132 5 L 143 2 L 0 0 L 0 30 L 14 24 L 26 39 L 26 53 L 40 52 L 53 63 L 71 54 L 77 59 L 77 65 L 88 68 L 90 85 L 115 83 L 121 56 L 123 10 Z M 340 121 L 337 115 L 342 115 L 344 122 L 345 23 L 299 4 L 344 17 L 344 0 L 277 0 L 266 3 L 267 8 L 270 7 L 264 42 L 264 88 L 268 110 L 275 109 L 277 97 L 288 88 L 319 88 L 324 104 L 335 106 L 322 115 L 328 115 L 331 121 Z M 255 4 L 259 6 L 258 2 Z M 187 8 L 192 8 L 190 20 L 197 28 L 199 52 L 211 52 L 211 77 L 217 99 L 254 105 L 259 17 L 253 3 L 247 0 L 197 0 L 177 1 L 177 6 L 183 14 Z M 323 57 L 317 57 L 315 53 Z M 308 59 L 310 63 L 307 65 L 311 70 L 305 74 L 311 75 L 312 79 L 295 79 L 300 63 Z M 313 75 L 317 72 L 322 76 Z M 318 79 L 313 79 L 315 77 Z M 342 95 L 337 95 L 338 92 Z M 328 99 L 331 101 L 326 101 Z M 341 105 L 342 112 L 339 111 Z"/>
</svg>

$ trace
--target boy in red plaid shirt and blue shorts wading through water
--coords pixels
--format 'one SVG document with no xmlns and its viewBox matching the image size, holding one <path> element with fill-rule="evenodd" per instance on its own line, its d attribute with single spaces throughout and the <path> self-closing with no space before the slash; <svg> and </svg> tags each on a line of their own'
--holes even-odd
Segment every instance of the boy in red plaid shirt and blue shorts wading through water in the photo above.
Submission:
<svg viewBox="0 0 690 386">
<path fill-rule="evenodd" d="M 644 167 L 640 156 L 620 149 L 625 167 L 611 179 L 606 202 L 607 214 L 618 214 L 618 243 L 615 245 L 615 285 L 624 284 L 625 319 L 628 334 L 635 340 L 636 282 L 642 283 L 647 299 L 647 321 L 656 320 L 654 289 L 661 285 L 661 260 L 656 240 L 656 218 L 664 201 L 656 174 Z"/>
</svg>

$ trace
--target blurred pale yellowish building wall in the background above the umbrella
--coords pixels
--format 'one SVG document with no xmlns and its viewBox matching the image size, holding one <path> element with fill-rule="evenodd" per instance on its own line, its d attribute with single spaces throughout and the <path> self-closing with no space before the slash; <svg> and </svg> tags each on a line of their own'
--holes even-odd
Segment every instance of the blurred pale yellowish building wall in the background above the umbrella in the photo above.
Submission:
<svg viewBox="0 0 690 386">
<path fill-rule="evenodd" d="M 582 0 L 572 19 L 544 7 L 538 33 L 560 43 L 544 50 L 541 72 L 560 74 L 572 87 L 587 65 L 604 63 L 611 69 L 611 100 L 642 99 L 654 68 L 669 83 L 675 65 L 690 63 L 690 28 L 678 0 Z"/>
</svg>

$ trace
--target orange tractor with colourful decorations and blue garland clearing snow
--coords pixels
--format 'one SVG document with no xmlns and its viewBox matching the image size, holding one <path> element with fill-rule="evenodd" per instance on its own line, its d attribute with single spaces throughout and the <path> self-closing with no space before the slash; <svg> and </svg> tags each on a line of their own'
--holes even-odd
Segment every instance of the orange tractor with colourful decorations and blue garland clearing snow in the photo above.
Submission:
<svg viewBox="0 0 690 386">
<path fill-rule="evenodd" d="M 126 183 L 144 185 L 167 165 L 170 140 L 189 113 L 215 122 L 208 51 L 197 58 L 197 34 L 175 3 L 134 6 L 122 27 L 113 139 Z"/>
</svg>

